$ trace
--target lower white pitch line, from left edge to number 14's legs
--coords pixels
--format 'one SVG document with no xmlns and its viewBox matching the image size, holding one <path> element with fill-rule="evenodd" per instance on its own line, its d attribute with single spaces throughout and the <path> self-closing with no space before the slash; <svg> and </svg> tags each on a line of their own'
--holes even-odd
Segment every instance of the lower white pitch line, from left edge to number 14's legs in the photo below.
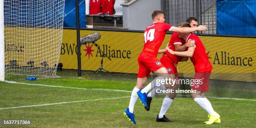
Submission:
<svg viewBox="0 0 256 128">
<path fill-rule="evenodd" d="M 121 98 L 128 98 L 128 97 L 114 97 L 114 98 L 95 99 L 95 100 L 80 100 L 80 101 L 69 101 L 69 102 L 55 102 L 55 103 L 41 104 L 41 105 L 28 105 L 28 106 L 19 106 L 19 107 L 10 107 L 10 108 L 0 108 L 0 110 L 4 110 L 4 109 L 14 109 L 14 108 L 38 107 L 38 106 L 49 106 L 49 105 L 60 105 L 60 104 L 70 104 L 70 103 L 87 102 L 87 101 L 97 101 L 97 100 L 114 100 L 114 99 L 121 99 Z"/>
</svg>

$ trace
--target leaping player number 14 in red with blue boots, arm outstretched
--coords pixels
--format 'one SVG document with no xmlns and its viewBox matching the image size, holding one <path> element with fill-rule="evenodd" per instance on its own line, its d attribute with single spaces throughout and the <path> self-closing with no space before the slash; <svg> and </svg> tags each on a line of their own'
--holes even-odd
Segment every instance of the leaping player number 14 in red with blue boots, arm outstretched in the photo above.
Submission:
<svg viewBox="0 0 256 128">
<path fill-rule="evenodd" d="M 133 108 L 136 100 L 139 97 L 143 105 L 147 106 L 146 93 L 152 88 L 156 87 L 154 84 L 148 84 L 145 88 L 143 88 L 150 72 L 154 72 L 157 75 L 163 77 L 164 79 L 169 78 L 167 69 L 156 58 L 159 47 L 164 40 L 166 31 L 191 33 L 193 31 L 207 30 L 206 26 L 198 26 L 195 28 L 177 28 L 171 26 L 167 23 L 164 23 L 164 12 L 159 10 L 154 11 L 151 16 L 154 22 L 144 31 L 144 48 L 141 54 L 138 56 L 139 71 L 137 77 L 137 84 L 132 91 L 129 107 L 127 108 L 127 110 L 124 111 L 124 115 L 133 124 L 136 124 L 133 114 Z"/>
</svg>

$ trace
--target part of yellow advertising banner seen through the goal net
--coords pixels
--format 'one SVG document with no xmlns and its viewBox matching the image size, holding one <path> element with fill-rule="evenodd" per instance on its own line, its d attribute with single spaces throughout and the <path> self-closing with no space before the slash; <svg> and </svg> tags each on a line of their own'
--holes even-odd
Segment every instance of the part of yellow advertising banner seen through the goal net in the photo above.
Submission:
<svg viewBox="0 0 256 128">
<path fill-rule="evenodd" d="M 54 68 L 59 58 L 61 29 L 5 27 L 5 64 Z"/>
</svg>

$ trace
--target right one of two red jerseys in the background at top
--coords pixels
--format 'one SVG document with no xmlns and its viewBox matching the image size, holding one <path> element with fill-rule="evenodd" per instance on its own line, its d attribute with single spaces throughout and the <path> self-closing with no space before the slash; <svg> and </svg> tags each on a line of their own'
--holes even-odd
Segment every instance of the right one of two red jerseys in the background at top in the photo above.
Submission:
<svg viewBox="0 0 256 128">
<path fill-rule="evenodd" d="M 102 13 L 113 15 L 115 0 L 101 0 L 102 4 Z"/>
</svg>

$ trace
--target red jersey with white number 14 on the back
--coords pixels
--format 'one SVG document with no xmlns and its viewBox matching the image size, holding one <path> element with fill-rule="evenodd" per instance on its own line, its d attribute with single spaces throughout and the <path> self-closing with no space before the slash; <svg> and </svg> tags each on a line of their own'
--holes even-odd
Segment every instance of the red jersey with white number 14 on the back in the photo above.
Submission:
<svg viewBox="0 0 256 128">
<path fill-rule="evenodd" d="M 171 30 L 172 26 L 167 23 L 153 23 L 144 31 L 143 52 L 151 52 L 157 56 L 158 50 L 164 41 L 166 31 Z"/>
</svg>

